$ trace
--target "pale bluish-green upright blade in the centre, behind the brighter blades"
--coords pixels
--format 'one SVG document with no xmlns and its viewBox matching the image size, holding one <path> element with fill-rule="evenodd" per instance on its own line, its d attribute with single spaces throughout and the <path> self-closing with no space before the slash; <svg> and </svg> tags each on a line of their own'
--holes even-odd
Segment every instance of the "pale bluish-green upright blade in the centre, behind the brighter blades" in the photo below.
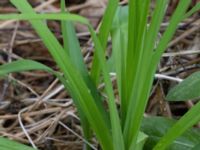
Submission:
<svg viewBox="0 0 200 150">
<path fill-rule="evenodd" d="M 112 37 L 112 55 L 114 55 L 114 63 L 117 74 L 118 91 L 120 95 L 121 105 L 124 106 L 124 90 L 125 90 L 125 64 L 127 51 L 127 35 L 128 35 L 128 7 L 119 7 L 113 22 L 111 31 Z M 121 107 L 121 116 L 125 116 L 126 110 Z M 124 119 L 121 120 L 122 126 Z M 123 127 L 122 127 L 123 128 Z"/>
</svg>

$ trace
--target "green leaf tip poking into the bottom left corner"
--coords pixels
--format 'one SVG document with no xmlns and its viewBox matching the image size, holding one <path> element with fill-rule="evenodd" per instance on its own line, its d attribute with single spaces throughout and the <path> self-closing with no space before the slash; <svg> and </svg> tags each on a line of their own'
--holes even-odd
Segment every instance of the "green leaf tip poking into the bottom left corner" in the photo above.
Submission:
<svg viewBox="0 0 200 150">
<path fill-rule="evenodd" d="M 1 150 L 36 150 L 29 146 L 20 144 L 13 140 L 9 140 L 7 138 L 0 137 L 0 149 Z"/>
</svg>

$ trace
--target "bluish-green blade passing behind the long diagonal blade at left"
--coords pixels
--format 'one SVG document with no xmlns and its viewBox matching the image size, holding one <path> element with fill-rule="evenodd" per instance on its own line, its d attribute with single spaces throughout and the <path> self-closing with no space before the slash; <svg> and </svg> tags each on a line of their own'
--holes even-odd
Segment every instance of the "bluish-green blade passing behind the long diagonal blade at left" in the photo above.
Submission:
<svg viewBox="0 0 200 150">
<path fill-rule="evenodd" d="M 68 13 L 65 11 L 65 7 L 66 7 L 65 0 L 61 0 L 61 13 Z M 89 78 L 88 71 L 84 64 L 83 56 L 81 53 L 81 48 L 80 48 L 79 41 L 77 39 L 76 32 L 75 32 L 72 22 L 62 20 L 61 21 L 61 31 L 62 31 L 62 35 L 63 35 L 64 50 L 70 56 L 72 62 L 77 67 L 77 69 L 80 71 L 87 86 L 90 88 L 92 86 L 92 83 L 91 83 L 92 81 Z M 90 89 L 92 89 L 91 93 L 95 97 L 95 100 L 98 103 L 98 105 L 102 105 L 102 104 L 100 104 L 101 99 L 98 96 L 97 91 L 95 91 L 95 89 L 96 89 L 95 86 L 93 85 L 93 87 Z M 85 139 L 87 141 L 89 141 L 91 139 L 92 132 L 91 132 L 91 129 L 89 126 L 89 122 L 87 121 L 87 119 L 84 119 L 84 120 L 85 121 L 82 121 L 83 134 L 84 134 Z M 84 147 L 87 150 L 90 149 L 90 147 L 87 144 L 84 144 Z"/>
</svg>

